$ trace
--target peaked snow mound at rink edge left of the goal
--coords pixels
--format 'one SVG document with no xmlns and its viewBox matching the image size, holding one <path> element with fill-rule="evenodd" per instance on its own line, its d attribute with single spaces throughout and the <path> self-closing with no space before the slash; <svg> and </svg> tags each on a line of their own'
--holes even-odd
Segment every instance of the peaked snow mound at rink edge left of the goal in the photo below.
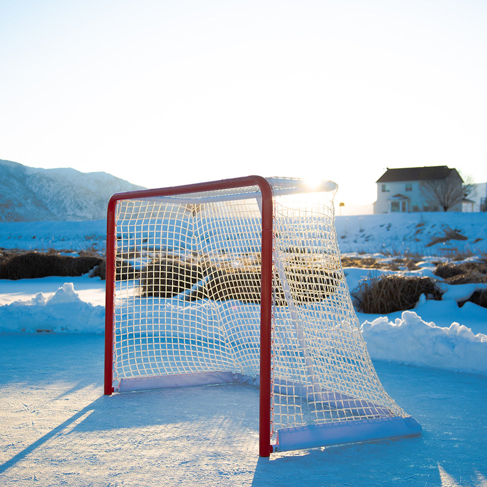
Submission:
<svg viewBox="0 0 487 487">
<path fill-rule="evenodd" d="M 102 333 L 105 307 L 79 298 L 72 282 L 53 296 L 43 293 L 28 301 L 0 306 L 0 332 Z"/>
</svg>

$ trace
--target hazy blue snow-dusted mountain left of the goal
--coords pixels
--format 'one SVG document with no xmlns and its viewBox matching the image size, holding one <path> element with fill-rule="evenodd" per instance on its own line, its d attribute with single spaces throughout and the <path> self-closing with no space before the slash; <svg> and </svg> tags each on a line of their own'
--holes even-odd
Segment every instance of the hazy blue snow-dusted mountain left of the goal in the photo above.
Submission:
<svg viewBox="0 0 487 487">
<path fill-rule="evenodd" d="M 0 222 L 106 218 L 113 193 L 142 189 L 106 172 L 37 169 L 0 159 Z"/>
</svg>

